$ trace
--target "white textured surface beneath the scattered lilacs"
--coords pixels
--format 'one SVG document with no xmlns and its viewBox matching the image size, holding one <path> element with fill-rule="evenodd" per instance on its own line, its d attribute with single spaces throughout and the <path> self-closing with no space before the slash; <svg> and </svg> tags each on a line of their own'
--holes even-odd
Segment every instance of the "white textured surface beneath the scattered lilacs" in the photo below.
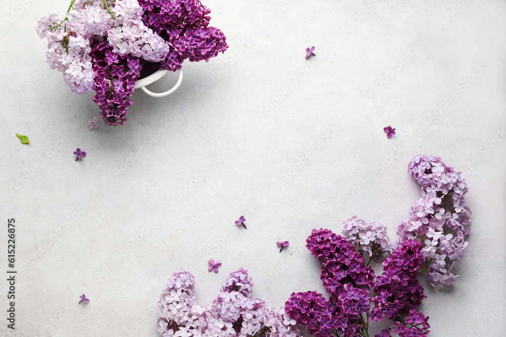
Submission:
<svg viewBox="0 0 506 337">
<path fill-rule="evenodd" d="M 424 282 L 431 335 L 506 335 L 506 3 L 204 5 L 229 50 L 186 61 L 169 97 L 135 92 L 124 126 L 90 131 L 93 94 L 70 92 L 35 34 L 68 1 L 0 3 L 0 273 L 8 218 L 18 270 L 15 331 L 0 277 L 0 335 L 157 336 L 156 300 L 180 268 L 195 275 L 200 304 L 239 267 L 273 307 L 323 292 L 306 237 L 339 233 L 356 214 L 395 238 L 419 197 L 406 170 L 418 154 L 463 171 L 473 211 L 454 285 Z M 77 147 L 87 157 L 75 162 Z M 234 225 L 241 215 L 247 230 Z M 290 242 L 281 254 L 278 240 Z M 209 258 L 222 261 L 218 274 Z"/>
</svg>

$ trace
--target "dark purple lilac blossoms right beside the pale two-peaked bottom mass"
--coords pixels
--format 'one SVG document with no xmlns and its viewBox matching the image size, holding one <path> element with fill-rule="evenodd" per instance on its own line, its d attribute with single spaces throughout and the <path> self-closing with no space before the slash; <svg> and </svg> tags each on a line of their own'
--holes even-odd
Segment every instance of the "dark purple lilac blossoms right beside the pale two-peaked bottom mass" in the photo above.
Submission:
<svg viewBox="0 0 506 337">
<path fill-rule="evenodd" d="M 320 278 L 330 298 L 317 292 L 293 293 L 286 312 L 316 337 L 365 335 L 374 271 L 346 238 L 328 229 L 313 229 L 306 242 L 322 264 Z"/>
</svg>

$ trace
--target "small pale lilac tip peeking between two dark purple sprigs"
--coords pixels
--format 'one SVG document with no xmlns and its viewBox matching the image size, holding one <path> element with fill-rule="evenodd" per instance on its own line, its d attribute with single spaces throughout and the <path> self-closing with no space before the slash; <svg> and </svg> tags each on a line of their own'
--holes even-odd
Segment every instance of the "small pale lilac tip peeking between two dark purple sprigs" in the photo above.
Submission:
<svg viewBox="0 0 506 337">
<path fill-rule="evenodd" d="M 387 236 L 387 227 L 377 221 L 366 222 L 354 215 L 343 222 L 342 236 L 360 251 L 369 255 L 369 264 L 380 258 L 385 252 L 392 252 L 392 245 Z"/>
</svg>

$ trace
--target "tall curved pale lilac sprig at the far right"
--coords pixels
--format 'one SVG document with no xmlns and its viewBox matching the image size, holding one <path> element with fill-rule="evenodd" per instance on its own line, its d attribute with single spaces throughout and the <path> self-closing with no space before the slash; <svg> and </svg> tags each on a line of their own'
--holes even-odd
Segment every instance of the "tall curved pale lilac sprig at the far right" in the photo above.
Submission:
<svg viewBox="0 0 506 337">
<path fill-rule="evenodd" d="M 411 206 L 409 218 L 397 226 L 399 243 L 410 239 L 423 243 L 430 283 L 451 284 L 458 276 L 451 269 L 463 257 L 470 232 L 471 211 L 464 206 L 466 179 L 435 156 L 413 157 L 408 170 L 421 185 L 421 197 Z"/>
</svg>

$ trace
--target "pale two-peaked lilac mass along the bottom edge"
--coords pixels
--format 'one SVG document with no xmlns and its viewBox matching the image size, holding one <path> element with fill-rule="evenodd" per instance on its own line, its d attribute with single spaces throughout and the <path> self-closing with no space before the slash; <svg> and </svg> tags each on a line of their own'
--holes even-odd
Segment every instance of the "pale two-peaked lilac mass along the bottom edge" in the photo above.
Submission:
<svg viewBox="0 0 506 337">
<path fill-rule="evenodd" d="M 162 337 L 299 337 L 288 315 L 274 311 L 267 303 L 251 297 L 253 281 L 243 268 L 223 283 L 212 306 L 195 302 L 195 278 L 181 270 L 172 274 L 158 300 L 156 324 Z"/>
</svg>

